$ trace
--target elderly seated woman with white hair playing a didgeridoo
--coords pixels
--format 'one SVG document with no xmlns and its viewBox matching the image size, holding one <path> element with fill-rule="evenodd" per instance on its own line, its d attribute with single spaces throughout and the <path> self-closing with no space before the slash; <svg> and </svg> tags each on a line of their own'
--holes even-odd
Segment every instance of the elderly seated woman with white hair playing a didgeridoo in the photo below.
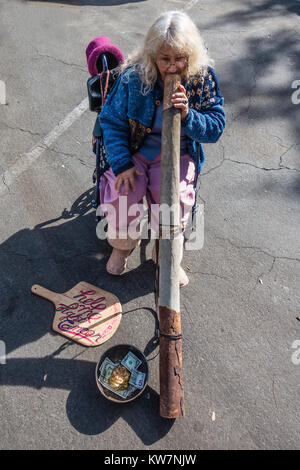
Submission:
<svg viewBox="0 0 300 470">
<path fill-rule="evenodd" d="M 99 115 L 110 164 L 100 179 L 113 247 L 106 266 L 110 274 L 125 272 L 127 258 L 139 243 L 128 231 L 136 218 L 130 208 L 140 207 L 144 196 L 150 212 L 159 204 L 163 89 L 166 74 L 172 73 L 182 79 L 172 103 L 181 112 L 180 204 L 183 230 L 186 226 L 204 161 L 201 143 L 216 142 L 225 126 L 224 100 L 212 65 L 192 20 L 171 11 L 154 22 L 143 46 L 121 66 Z M 127 198 L 125 210 L 120 196 Z M 187 283 L 181 268 L 180 286 Z"/>
</svg>

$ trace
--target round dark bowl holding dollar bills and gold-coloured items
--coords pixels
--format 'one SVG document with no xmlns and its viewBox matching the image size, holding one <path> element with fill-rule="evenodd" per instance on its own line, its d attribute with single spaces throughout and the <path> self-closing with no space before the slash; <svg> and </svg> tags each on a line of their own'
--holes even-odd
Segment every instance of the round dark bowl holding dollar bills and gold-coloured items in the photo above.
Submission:
<svg viewBox="0 0 300 470">
<path fill-rule="evenodd" d="M 96 384 L 102 395 L 115 403 L 128 403 L 140 396 L 148 382 L 144 354 L 130 344 L 107 349 L 96 365 Z"/>
</svg>

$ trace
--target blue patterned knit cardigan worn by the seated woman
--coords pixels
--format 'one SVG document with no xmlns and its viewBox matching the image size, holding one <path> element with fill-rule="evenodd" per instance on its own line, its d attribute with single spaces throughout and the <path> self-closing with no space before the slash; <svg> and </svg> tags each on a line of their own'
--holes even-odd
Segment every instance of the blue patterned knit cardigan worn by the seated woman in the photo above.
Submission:
<svg viewBox="0 0 300 470">
<path fill-rule="evenodd" d="M 207 75 L 196 75 L 183 85 L 189 112 L 181 124 L 188 138 L 188 152 L 199 174 L 204 162 L 201 143 L 217 142 L 225 127 L 224 98 L 212 67 L 208 68 Z M 156 106 L 163 99 L 159 81 L 153 90 L 142 92 L 142 86 L 137 73 L 125 70 L 116 80 L 98 117 L 106 157 L 116 176 L 134 166 L 131 155 L 151 132 Z"/>
</svg>

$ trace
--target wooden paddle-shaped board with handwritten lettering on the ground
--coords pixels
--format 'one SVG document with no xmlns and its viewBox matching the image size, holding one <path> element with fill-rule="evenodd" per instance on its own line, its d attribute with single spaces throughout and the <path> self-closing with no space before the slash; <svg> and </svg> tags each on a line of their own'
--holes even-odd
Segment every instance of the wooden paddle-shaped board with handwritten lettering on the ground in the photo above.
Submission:
<svg viewBox="0 0 300 470">
<path fill-rule="evenodd" d="M 79 282 L 58 294 L 35 284 L 31 292 L 55 305 L 54 331 L 84 346 L 99 346 L 116 332 L 121 318 L 119 299 L 99 287 Z"/>
</svg>

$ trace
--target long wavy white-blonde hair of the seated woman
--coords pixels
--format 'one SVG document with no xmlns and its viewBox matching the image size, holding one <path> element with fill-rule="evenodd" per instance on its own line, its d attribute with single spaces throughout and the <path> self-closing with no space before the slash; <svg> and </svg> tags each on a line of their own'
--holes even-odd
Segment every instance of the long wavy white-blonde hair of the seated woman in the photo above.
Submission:
<svg viewBox="0 0 300 470">
<path fill-rule="evenodd" d="M 188 58 L 184 77 L 188 80 L 196 74 L 206 75 L 207 67 L 214 61 L 208 55 L 200 32 L 191 18 L 181 11 L 167 11 L 160 15 L 149 28 L 144 44 L 130 54 L 120 66 L 123 79 L 137 72 L 142 82 L 142 92 L 152 90 L 157 80 L 157 55 L 162 46 L 177 49 Z"/>
</svg>

